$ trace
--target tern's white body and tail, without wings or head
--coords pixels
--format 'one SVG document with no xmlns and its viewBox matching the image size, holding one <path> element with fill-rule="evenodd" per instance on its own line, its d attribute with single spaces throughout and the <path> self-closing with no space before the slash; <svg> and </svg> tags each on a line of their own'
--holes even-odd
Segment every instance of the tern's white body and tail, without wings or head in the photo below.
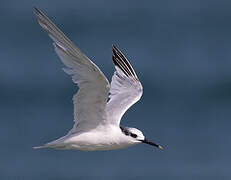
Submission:
<svg viewBox="0 0 231 180">
<path fill-rule="evenodd" d="M 122 149 L 140 143 L 121 133 L 116 126 L 99 126 L 88 132 L 67 134 L 47 143 L 44 147 L 56 149 L 77 149 L 82 151 Z"/>
</svg>

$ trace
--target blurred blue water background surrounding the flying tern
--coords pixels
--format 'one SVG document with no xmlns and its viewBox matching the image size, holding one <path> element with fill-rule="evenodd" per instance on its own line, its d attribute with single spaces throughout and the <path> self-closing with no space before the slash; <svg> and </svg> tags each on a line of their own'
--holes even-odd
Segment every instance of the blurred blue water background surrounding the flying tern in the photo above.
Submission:
<svg viewBox="0 0 231 180">
<path fill-rule="evenodd" d="M 164 151 L 32 149 L 72 127 L 77 91 L 33 6 L 109 79 L 126 54 L 144 95 L 122 124 Z M 0 179 L 230 180 L 231 1 L 1 0 L 0 22 Z"/>
</svg>

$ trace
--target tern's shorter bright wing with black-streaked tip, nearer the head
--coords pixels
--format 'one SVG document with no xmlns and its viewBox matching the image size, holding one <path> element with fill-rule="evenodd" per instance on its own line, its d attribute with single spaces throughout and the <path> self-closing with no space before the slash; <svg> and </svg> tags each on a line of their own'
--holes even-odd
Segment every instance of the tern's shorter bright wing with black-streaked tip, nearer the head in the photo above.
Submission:
<svg viewBox="0 0 231 180">
<path fill-rule="evenodd" d="M 111 123 L 119 125 L 123 114 L 141 98 L 143 88 L 127 58 L 114 45 L 112 50 L 116 71 L 112 76 L 107 114 Z"/>
</svg>

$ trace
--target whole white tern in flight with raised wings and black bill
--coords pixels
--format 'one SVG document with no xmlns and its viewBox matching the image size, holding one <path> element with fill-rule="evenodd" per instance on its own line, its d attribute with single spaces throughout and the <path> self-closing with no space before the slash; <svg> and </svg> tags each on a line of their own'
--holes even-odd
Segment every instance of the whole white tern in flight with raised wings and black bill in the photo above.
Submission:
<svg viewBox="0 0 231 180">
<path fill-rule="evenodd" d="M 74 126 L 67 135 L 35 148 L 75 149 L 82 151 L 122 149 L 146 143 L 162 147 L 131 127 L 120 126 L 123 114 L 142 96 L 142 85 L 128 59 L 112 46 L 116 71 L 111 84 L 85 54 L 38 8 L 34 8 L 41 27 L 54 41 L 64 71 L 79 86 L 73 96 Z"/>
</svg>

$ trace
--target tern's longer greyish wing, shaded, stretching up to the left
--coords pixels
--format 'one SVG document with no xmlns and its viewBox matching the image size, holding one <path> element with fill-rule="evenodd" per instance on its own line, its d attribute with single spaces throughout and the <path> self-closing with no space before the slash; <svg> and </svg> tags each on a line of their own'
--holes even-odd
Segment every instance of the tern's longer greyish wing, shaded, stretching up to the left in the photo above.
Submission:
<svg viewBox="0 0 231 180">
<path fill-rule="evenodd" d="M 51 20 L 35 8 L 39 24 L 54 41 L 55 51 L 66 66 L 64 71 L 79 86 L 73 96 L 74 127 L 70 132 L 95 128 L 106 121 L 109 82 L 100 69 L 85 56 Z"/>
</svg>

